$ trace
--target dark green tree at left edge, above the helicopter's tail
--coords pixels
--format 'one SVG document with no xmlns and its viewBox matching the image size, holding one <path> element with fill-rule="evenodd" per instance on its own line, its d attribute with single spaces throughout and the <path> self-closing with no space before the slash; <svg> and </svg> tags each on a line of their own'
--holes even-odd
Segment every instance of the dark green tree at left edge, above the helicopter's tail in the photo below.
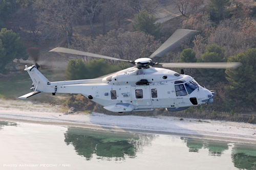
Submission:
<svg viewBox="0 0 256 170">
<path fill-rule="evenodd" d="M 6 65 L 10 62 L 13 64 L 13 69 L 16 70 L 14 59 L 24 59 L 27 60 L 28 56 L 26 54 L 26 48 L 20 42 L 20 37 L 18 34 L 14 33 L 12 30 L 2 29 L 0 32 L 0 40 L 2 42 L 2 47 L 0 52 L 2 55 L 1 58 L 1 68 L 0 72 L 7 73 L 8 70 L 5 68 Z"/>
</svg>

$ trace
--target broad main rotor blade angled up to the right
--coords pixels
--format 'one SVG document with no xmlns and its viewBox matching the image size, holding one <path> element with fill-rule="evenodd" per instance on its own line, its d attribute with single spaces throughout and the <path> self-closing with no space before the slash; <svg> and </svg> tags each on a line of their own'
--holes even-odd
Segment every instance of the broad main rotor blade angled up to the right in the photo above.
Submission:
<svg viewBox="0 0 256 170">
<path fill-rule="evenodd" d="M 187 37 L 198 34 L 199 31 L 195 30 L 176 30 L 172 36 L 170 36 L 151 56 L 150 58 L 163 57 L 166 53 L 177 48 L 181 41 Z"/>
</svg>

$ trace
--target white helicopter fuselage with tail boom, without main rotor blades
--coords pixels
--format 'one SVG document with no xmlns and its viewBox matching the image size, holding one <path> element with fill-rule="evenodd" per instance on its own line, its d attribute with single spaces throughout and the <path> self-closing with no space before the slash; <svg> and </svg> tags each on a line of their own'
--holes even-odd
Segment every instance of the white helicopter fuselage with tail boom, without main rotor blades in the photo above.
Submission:
<svg viewBox="0 0 256 170">
<path fill-rule="evenodd" d="M 33 81 L 31 89 L 34 92 L 82 94 L 113 112 L 155 108 L 180 111 L 189 106 L 212 103 L 214 96 L 214 92 L 200 86 L 188 75 L 151 66 L 146 69 L 127 68 L 103 79 L 60 82 L 48 81 L 34 66 L 26 66 L 25 70 Z"/>
</svg>

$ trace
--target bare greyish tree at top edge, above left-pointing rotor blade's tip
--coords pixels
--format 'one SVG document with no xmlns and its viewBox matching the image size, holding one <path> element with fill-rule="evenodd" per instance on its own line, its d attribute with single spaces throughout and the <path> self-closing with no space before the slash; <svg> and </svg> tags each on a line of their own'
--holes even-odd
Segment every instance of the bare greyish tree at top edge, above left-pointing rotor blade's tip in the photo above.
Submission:
<svg viewBox="0 0 256 170">
<path fill-rule="evenodd" d="M 73 36 L 72 22 L 77 15 L 77 1 L 75 0 L 37 0 L 35 1 L 38 20 L 41 22 L 41 32 L 45 39 L 65 36 L 67 46 L 71 44 Z"/>
</svg>

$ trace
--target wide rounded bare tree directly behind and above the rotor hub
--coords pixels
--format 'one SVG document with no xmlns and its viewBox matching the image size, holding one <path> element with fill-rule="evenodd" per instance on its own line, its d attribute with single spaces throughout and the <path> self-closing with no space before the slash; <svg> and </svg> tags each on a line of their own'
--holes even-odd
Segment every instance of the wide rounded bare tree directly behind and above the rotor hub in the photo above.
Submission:
<svg viewBox="0 0 256 170">
<path fill-rule="evenodd" d="M 91 42 L 88 51 L 125 60 L 136 60 L 150 56 L 159 46 L 160 42 L 152 35 L 118 29 L 97 36 Z"/>
</svg>

